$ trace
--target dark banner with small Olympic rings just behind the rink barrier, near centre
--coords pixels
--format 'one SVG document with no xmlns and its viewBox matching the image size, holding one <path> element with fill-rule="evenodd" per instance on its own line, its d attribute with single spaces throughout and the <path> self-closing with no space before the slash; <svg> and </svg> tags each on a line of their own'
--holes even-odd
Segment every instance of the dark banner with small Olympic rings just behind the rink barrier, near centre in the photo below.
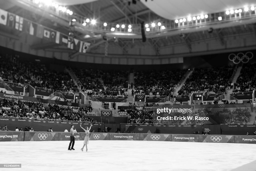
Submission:
<svg viewBox="0 0 256 171">
<path fill-rule="evenodd" d="M 125 124 L 125 132 L 131 131 L 133 131 L 134 133 L 156 133 L 156 127 L 153 125 Z"/>
</svg>

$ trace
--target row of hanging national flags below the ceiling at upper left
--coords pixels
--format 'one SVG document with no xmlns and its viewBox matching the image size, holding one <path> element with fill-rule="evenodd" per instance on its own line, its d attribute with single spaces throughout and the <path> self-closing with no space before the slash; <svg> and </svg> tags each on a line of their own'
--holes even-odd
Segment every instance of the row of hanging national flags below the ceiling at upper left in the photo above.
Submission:
<svg viewBox="0 0 256 171">
<path fill-rule="evenodd" d="M 59 31 L 47 28 L 35 22 L 31 22 L 23 17 L 9 13 L 0 9 L 0 24 L 12 27 L 16 30 L 26 32 L 31 36 L 36 36 L 56 44 L 66 46 L 70 49 L 86 53 L 90 43 L 74 38 L 74 41 L 69 41 L 68 36 Z"/>
</svg>

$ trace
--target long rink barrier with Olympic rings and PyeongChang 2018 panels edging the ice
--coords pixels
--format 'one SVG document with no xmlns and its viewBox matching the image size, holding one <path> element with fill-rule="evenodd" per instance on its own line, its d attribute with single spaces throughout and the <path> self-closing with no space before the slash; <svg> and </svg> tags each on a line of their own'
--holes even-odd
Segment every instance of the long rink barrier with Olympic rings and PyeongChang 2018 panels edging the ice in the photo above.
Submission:
<svg viewBox="0 0 256 171">
<path fill-rule="evenodd" d="M 76 141 L 83 141 L 84 132 L 75 134 Z M 0 141 L 69 141 L 70 132 L 16 132 L 1 131 Z M 141 134 L 141 133 L 90 133 L 89 140 L 176 141 L 202 143 L 256 144 L 252 135 L 197 135 L 197 134 Z"/>
</svg>

